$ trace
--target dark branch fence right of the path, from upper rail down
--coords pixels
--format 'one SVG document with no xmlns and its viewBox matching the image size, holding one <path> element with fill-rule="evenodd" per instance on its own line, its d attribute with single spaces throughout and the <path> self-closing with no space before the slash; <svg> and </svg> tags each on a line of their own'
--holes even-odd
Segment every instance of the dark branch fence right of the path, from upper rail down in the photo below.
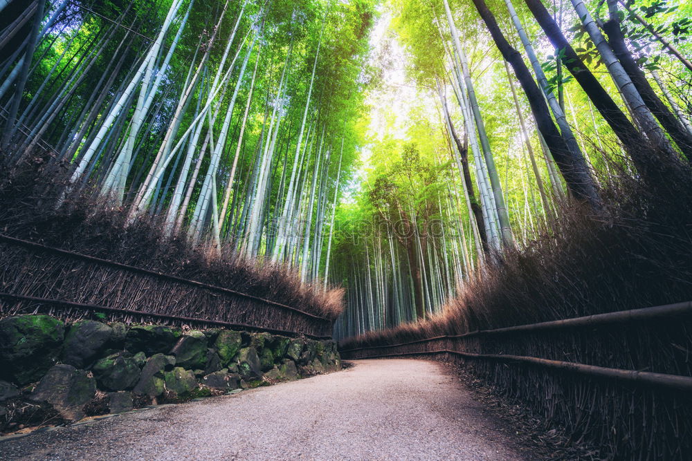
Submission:
<svg viewBox="0 0 692 461">
<path fill-rule="evenodd" d="M 692 302 L 340 352 L 452 361 L 605 458 L 692 453 Z"/>
</svg>

